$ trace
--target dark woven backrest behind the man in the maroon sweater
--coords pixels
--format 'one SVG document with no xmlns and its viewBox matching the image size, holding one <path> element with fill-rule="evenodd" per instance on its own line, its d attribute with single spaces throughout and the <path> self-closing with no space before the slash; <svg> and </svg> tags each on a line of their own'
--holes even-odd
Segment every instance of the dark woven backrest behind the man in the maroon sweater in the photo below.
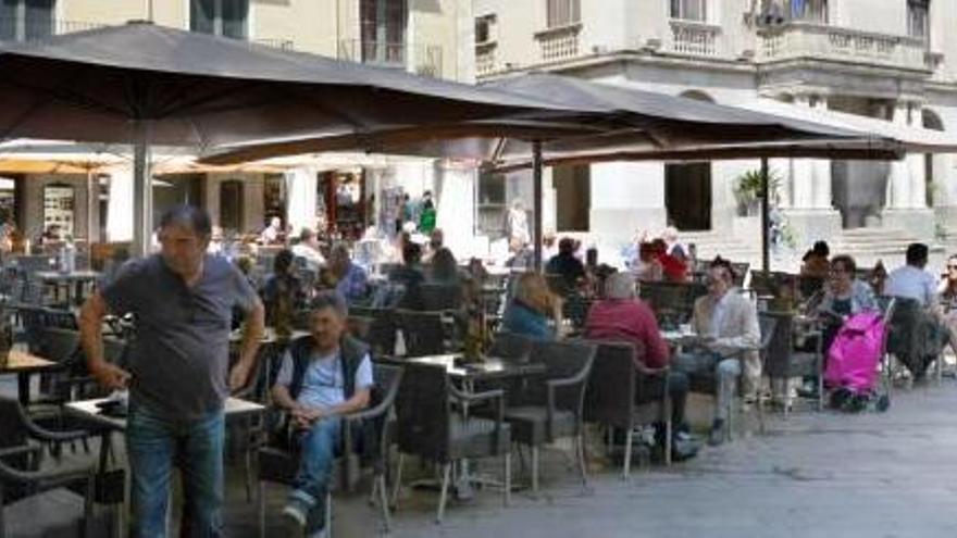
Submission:
<svg viewBox="0 0 957 538">
<path fill-rule="evenodd" d="M 594 342 L 595 362 L 585 391 L 585 422 L 632 427 L 635 402 L 635 348 L 625 342 Z"/>
</svg>

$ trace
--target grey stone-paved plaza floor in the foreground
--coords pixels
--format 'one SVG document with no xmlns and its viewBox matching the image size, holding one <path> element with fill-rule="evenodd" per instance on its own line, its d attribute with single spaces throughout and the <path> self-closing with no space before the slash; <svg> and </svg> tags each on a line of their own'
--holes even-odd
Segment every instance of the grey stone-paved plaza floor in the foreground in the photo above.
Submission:
<svg viewBox="0 0 957 538">
<path fill-rule="evenodd" d="M 706 414 L 706 401 L 695 405 Z M 556 451 L 545 456 L 542 492 L 478 491 L 451 502 L 434 523 L 437 493 L 407 492 L 395 537 L 948 537 L 957 536 L 957 381 L 945 378 L 893 396 L 886 414 L 797 411 L 767 435 L 704 448 L 671 468 L 596 466 L 583 495 Z M 418 465 L 411 465 L 411 468 Z M 598 468 L 600 467 L 600 468 Z M 518 464 L 515 464 L 518 468 Z M 227 536 L 258 535 L 241 467 L 231 467 Z M 517 476 L 521 480 L 521 476 Z M 278 516 L 286 489 L 268 489 L 268 536 L 287 536 Z M 365 490 L 368 492 L 368 489 Z M 364 495 L 336 496 L 335 536 L 380 535 Z"/>
</svg>

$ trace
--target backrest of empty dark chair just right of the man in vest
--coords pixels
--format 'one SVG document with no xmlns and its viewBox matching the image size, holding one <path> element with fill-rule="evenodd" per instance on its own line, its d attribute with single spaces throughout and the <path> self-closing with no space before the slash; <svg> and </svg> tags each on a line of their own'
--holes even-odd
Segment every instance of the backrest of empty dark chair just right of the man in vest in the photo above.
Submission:
<svg viewBox="0 0 957 538">
<path fill-rule="evenodd" d="M 396 441 L 409 454 L 443 460 L 448 454 L 449 379 L 445 367 L 405 364 L 396 395 Z"/>
</svg>

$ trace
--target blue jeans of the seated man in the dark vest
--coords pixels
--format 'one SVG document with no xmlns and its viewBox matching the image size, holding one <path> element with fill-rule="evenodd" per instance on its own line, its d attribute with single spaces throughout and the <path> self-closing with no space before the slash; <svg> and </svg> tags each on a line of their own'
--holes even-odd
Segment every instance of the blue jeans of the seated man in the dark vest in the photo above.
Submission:
<svg viewBox="0 0 957 538">
<path fill-rule="evenodd" d="M 339 442 L 340 423 L 338 418 L 323 418 L 302 435 L 299 471 L 293 480 L 290 497 L 299 498 L 310 506 L 323 505 L 336 458 L 336 445 Z M 322 517 L 319 520 L 322 521 Z"/>
</svg>

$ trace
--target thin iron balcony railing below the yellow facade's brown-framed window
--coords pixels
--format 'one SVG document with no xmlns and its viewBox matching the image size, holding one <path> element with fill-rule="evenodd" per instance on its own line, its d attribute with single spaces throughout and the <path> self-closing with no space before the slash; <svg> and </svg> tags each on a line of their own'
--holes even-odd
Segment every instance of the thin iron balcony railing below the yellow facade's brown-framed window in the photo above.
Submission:
<svg viewBox="0 0 957 538">
<path fill-rule="evenodd" d="M 395 67 L 425 76 L 442 76 L 442 47 L 437 45 L 388 43 L 345 39 L 339 41 L 339 60 Z"/>
</svg>

